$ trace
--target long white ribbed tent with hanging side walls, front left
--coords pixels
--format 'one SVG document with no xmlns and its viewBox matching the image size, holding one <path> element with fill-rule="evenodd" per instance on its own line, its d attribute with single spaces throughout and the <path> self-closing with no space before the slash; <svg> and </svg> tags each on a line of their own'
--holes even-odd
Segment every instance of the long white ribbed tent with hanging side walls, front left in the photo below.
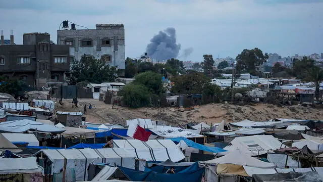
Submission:
<svg viewBox="0 0 323 182">
<path fill-rule="evenodd" d="M 104 162 L 135 169 L 135 156 L 124 149 L 60 149 L 41 150 L 52 162 L 51 173 L 64 168 L 74 168 L 76 180 L 87 179 L 87 168 L 90 163 Z"/>
</svg>

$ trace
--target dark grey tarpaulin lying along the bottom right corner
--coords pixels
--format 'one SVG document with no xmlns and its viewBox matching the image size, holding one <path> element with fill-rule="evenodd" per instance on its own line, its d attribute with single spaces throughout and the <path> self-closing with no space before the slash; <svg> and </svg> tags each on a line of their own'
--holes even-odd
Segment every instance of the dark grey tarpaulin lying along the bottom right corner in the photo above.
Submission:
<svg viewBox="0 0 323 182">
<path fill-rule="evenodd" d="M 288 172 L 288 173 L 276 173 L 276 174 L 254 174 L 252 175 L 255 182 L 322 182 L 323 180 L 317 172 Z"/>
</svg>

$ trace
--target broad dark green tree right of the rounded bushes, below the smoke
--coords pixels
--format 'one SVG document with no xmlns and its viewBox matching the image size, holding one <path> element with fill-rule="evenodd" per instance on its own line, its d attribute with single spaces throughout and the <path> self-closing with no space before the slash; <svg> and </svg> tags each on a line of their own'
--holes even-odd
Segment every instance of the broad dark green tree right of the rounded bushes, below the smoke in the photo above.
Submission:
<svg viewBox="0 0 323 182">
<path fill-rule="evenodd" d="M 211 82 L 203 73 L 196 71 L 175 76 L 172 81 L 172 92 L 175 94 L 202 94 L 203 87 Z"/>
</svg>

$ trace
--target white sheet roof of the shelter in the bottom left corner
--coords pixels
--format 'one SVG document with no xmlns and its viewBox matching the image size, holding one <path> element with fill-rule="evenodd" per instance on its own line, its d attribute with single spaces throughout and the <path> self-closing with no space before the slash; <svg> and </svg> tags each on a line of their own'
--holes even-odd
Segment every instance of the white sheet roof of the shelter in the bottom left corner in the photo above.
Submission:
<svg viewBox="0 0 323 182">
<path fill-rule="evenodd" d="M 0 159 L 0 174 L 37 172 L 41 172 L 41 169 L 37 165 L 36 157 Z"/>
</svg>

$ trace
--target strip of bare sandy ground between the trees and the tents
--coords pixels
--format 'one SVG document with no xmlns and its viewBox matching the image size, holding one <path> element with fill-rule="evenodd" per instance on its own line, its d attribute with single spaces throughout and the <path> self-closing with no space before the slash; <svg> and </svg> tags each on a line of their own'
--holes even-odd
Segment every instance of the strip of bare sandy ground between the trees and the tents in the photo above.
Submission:
<svg viewBox="0 0 323 182">
<path fill-rule="evenodd" d="M 147 118 L 182 127 L 191 121 L 211 124 L 222 120 L 237 122 L 244 119 L 252 121 L 266 121 L 273 118 L 323 119 L 322 109 L 303 106 L 208 104 L 197 106 L 198 109 L 191 111 L 173 111 L 171 108 L 129 109 L 120 106 L 114 106 L 112 109 L 112 105 L 104 104 L 99 100 L 78 99 L 78 101 L 78 108 L 72 108 L 71 99 L 63 100 L 63 106 L 57 102 L 55 107 L 57 111 L 83 112 L 84 104 L 87 106 L 92 104 L 93 109 L 87 109 L 87 115 L 85 115 L 87 122 L 125 124 L 127 119 Z"/>
</svg>

